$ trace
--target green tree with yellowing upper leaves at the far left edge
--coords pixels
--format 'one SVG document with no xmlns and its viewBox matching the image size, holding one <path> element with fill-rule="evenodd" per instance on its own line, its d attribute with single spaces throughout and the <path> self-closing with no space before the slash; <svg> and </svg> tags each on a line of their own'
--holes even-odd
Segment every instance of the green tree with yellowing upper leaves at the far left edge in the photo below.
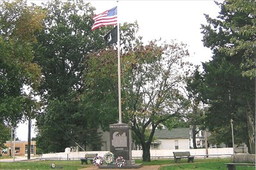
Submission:
<svg viewBox="0 0 256 170">
<path fill-rule="evenodd" d="M 15 127 L 31 109 L 26 88 L 36 92 L 40 82 L 32 47 L 45 13 L 25 1 L 1 1 L 0 8 L 0 122 Z"/>
</svg>

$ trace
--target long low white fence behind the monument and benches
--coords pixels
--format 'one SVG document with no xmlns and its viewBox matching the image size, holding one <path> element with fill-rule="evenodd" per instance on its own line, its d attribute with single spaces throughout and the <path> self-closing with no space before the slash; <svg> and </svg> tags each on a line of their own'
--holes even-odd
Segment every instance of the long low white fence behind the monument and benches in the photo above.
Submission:
<svg viewBox="0 0 256 170">
<path fill-rule="evenodd" d="M 190 151 L 190 155 L 195 157 L 204 157 L 206 155 L 205 149 L 191 149 L 191 150 L 150 150 L 150 156 L 152 158 L 171 158 L 173 157 L 173 151 Z M 230 157 L 233 153 L 233 148 L 211 148 L 208 149 L 209 157 Z M 44 158 L 61 158 L 61 159 L 79 159 L 84 158 L 85 153 L 98 153 L 99 156 L 103 157 L 108 151 L 72 151 L 72 152 L 61 152 L 61 153 L 47 153 L 42 155 Z M 132 150 L 132 158 L 142 158 L 142 150 Z"/>
</svg>

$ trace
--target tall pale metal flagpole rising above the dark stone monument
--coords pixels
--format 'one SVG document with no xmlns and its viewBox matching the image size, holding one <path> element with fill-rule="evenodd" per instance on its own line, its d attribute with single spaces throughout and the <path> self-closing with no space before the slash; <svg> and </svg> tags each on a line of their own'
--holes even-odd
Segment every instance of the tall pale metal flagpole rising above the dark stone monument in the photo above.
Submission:
<svg viewBox="0 0 256 170">
<path fill-rule="evenodd" d="M 118 1 L 116 1 L 118 4 Z M 118 5 L 117 5 L 118 10 Z M 117 13 L 117 67 L 118 67 L 118 112 L 119 112 L 119 121 L 122 123 L 122 102 L 121 102 L 121 61 L 120 61 L 120 33 L 119 33 L 119 22 L 118 22 L 118 13 Z"/>
</svg>

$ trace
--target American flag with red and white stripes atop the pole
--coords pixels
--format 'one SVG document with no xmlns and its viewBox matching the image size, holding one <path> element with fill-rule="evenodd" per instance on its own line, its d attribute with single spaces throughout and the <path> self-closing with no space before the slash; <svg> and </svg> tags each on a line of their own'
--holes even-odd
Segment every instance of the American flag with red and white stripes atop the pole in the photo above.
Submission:
<svg viewBox="0 0 256 170">
<path fill-rule="evenodd" d="M 92 30 L 97 29 L 102 26 L 111 26 L 117 24 L 117 6 L 106 12 L 102 12 L 95 15 L 93 18 L 95 20 Z"/>
</svg>

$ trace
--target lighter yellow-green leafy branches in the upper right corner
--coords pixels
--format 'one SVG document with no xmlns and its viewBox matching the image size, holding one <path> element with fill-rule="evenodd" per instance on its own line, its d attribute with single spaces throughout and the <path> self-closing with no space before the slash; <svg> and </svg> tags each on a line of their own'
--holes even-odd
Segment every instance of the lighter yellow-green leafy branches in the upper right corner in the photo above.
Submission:
<svg viewBox="0 0 256 170">
<path fill-rule="evenodd" d="M 256 2 L 253 0 L 228 0 L 223 3 L 223 15 L 220 16 L 223 29 L 229 29 L 230 42 L 226 46 L 220 47 L 220 50 L 228 56 L 236 56 L 240 53 L 240 66 L 242 75 L 253 79 L 256 77 Z"/>
</svg>

